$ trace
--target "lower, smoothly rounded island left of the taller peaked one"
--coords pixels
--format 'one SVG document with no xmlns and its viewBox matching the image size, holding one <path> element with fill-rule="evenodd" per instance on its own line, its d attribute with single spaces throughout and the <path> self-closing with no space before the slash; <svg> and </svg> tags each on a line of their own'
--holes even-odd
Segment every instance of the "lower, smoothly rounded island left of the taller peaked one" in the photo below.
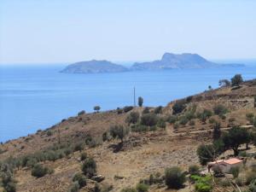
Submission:
<svg viewBox="0 0 256 192">
<path fill-rule="evenodd" d="M 127 71 L 126 67 L 110 61 L 80 61 L 64 68 L 61 73 L 118 73 Z"/>
</svg>

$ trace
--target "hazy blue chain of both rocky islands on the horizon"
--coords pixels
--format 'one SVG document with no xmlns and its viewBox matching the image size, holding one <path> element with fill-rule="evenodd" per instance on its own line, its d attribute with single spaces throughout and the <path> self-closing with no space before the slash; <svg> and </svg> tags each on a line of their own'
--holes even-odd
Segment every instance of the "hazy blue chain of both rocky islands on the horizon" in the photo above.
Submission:
<svg viewBox="0 0 256 192">
<path fill-rule="evenodd" d="M 160 60 L 137 62 L 130 68 L 114 64 L 110 61 L 80 61 L 67 66 L 61 73 L 119 73 L 127 71 L 164 70 L 164 69 L 192 69 L 212 67 L 243 67 L 243 64 L 219 64 L 207 61 L 198 54 L 165 53 Z"/>
</svg>

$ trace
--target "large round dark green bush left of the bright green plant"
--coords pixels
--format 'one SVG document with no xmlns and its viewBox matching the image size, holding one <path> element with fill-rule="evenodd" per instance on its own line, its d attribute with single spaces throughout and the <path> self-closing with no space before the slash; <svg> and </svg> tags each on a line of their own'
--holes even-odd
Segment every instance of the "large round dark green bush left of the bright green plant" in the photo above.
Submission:
<svg viewBox="0 0 256 192">
<path fill-rule="evenodd" d="M 165 172 L 166 185 L 171 189 L 179 189 L 186 181 L 185 174 L 177 166 L 167 168 Z"/>
</svg>

